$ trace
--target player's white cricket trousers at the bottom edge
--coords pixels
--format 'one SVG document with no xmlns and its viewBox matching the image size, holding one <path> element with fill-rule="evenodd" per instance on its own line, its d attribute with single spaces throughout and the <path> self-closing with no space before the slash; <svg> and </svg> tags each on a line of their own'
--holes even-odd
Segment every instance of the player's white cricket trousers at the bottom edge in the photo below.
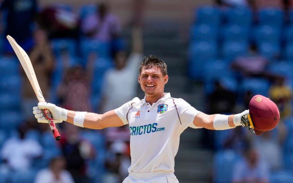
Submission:
<svg viewBox="0 0 293 183">
<path fill-rule="evenodd" d="M 179 181 L 172 172 L 130 172 L 122 183 L 179 183 Z"/>
</svg>

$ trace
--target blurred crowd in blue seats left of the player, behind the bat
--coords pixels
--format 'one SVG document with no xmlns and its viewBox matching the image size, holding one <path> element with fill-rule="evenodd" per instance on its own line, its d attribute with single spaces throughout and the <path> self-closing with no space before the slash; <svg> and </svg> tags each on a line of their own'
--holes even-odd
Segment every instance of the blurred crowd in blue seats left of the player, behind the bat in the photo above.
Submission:
<svg viewBox="0 0 293 183">
<path fill-rule="evenodd" d="M 141 9 L 138 1 L 133 6 Z M 56 141 L 48 125 L 36 123 L 32 107 L 38 100 L 6 35 L 29 55 L 46 101 L 103 113 L 136 95 L 142 11 L 134 11 L 129 23 L 131 48 L 106 3 L 75 10 L 3 0 L 0 13 L 0 182 L 121 183 L 130 166 L 128 127 L 93 131 L 62 123 Z"/>
</svg>

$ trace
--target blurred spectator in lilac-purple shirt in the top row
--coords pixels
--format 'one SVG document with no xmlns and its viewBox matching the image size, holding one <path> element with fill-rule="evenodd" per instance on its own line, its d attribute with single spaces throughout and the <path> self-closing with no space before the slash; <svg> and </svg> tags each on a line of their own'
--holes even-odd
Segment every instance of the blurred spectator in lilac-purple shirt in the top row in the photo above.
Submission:
<svg viewBox="0 0 293 183">
<path fill-rule="evenodd" d="M 118 17 L 109 13 L 108 5 L 104 3 L 98 5 L 95 14 L 84 19 L 81 29 L 87 37 L 101 41 L 112 41 L 121 32 Z"/>
</svg>

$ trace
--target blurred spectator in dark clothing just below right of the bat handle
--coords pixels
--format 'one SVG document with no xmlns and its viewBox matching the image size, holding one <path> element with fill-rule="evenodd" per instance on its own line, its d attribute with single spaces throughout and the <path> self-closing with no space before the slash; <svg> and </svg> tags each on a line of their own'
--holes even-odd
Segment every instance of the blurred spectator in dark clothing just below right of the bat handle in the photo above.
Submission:
<svg viewBox="0 0 293 183">
<path fill-rule="evenodd" d="M 83 140 L 79 128 L 65 124 L 60 140 L 61 149 L 66 160 L 66 169 L 71 173 L 75 183 L 89 183 L 86 174 L 86 161 L 95 157 L 95 151 L 90 142 Z"/>
</svg>

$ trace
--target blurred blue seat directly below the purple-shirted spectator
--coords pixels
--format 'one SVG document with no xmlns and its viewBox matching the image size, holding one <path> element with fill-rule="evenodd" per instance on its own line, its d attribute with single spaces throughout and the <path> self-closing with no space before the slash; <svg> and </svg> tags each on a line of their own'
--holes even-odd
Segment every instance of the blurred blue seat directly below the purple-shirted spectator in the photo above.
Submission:
<svg viewBox="0 0 293 183">
<path fill-rule="evenodd" d="M 97 53 L 98 57 L 109 58 L 111 56 L 111 44 L 99 40 L 83 39 L 79 49 L 82 51 L 83 59 L 88 59 L 91 52 Z"/>
</svg>

